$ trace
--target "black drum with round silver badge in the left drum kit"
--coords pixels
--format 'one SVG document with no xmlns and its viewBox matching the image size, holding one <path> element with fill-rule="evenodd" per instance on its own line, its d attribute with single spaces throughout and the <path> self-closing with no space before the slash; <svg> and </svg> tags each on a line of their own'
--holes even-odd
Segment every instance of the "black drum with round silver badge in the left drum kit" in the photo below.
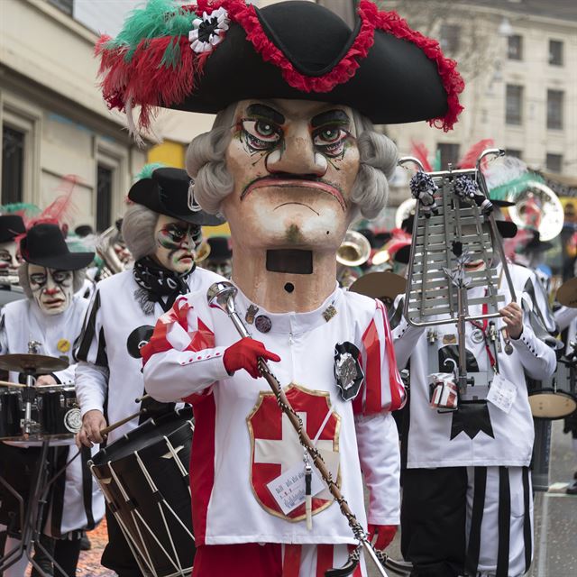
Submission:
<svg viewBox="0 0 577 577">
<path fill-rule="evenodd" d="M 69 385 L 55 385 L 36 390 L 36 401 L 43 438 L 69 438 L 82 426 L 76 390 Z"/>
</svg>

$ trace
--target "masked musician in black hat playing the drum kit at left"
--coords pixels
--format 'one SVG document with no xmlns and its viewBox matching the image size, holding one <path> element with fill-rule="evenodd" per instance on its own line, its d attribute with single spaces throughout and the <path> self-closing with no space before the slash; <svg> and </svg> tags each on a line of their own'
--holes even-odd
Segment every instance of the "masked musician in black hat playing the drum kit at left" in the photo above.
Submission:
<svg viewBox="0 0 577 577">
<path fill-rule="evenodd" d="M 23 263 L 18 269 L 20 284 L 26 298 L 7 304 L 0 321 L 0 347 L 3 354 L 36 353 L 60 357 L 69 367 L 53 374 L 42 375 L 37 385 L 74 384 L 75 364 L 72 357 L 74 342 L 82 331 L 82 321 L 88 303 L 74 293 L 82 285 L 84 272 L 94 257 L 92 252 L 69 252 L 57 224 L 35 224 L 20 243 Z M 11 372 L 10 380 L 18 380 L 18 373 Z M 78 408 L 63 415 L 64 425 L 70 433 L 78 428 Z M 50 431 L 43 431 L 49 434 Z M 37 473 L 40 459 L 38 442 L 6 442 L 0 444 L 2 475 L 15 490 L 29 496 L 30 485 Z M 51 471 L 60 470 L 77 453 L 73 440 L 53 441 L 50 447 Z M 91 529 L 104 516 L 104 498 L 87 470 L 90 450 L 82 451 L 80 458 L 70 463 L 50 490 L 45 513 L 44 533 L 52 539 L 42 538 L 42 545 L 54 555 L 66 575 L 76 573 L 80 537 L 83 529 Z M 9 466 L 7 466 L 7 464 Z M 5 552 L 11 551 L 20 536 L 21 519 L 18 502 L 3 491 L 0 520 L 8 527 Z M 37 559 L 43 569 L 52 572 L 50 561 Z M 27 559 L 5 570 L 6 577 L 23 575 Z M 61 575 L 60 572 L 57 572 Z"/>
</svg>

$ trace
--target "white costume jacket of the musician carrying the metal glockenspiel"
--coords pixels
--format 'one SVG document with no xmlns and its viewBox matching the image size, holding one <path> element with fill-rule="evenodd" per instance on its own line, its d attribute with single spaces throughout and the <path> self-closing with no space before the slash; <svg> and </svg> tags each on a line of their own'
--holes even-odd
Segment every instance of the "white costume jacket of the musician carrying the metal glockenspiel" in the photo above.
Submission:
<svg viewBox="0 0 577 577">
<path fill-rule="evenodd" d="M 523 292 L 530 270 L 522 267 L 509 267 L 513 285 L 516 288 L 517 303 L 523 300 L 527 311 L 532 300 Z M 505 279 L 502 279 L 499 293 L 505 301 L 504 307 L 511 301 Z M 470 298 L 481 297 L 483 289 L 470 289 Z M 481 306 L 471 307 L 473 314 L 481 314 Z M 426 330 L 410 326 L 403 317 L 393 329 L 395 352 L 398 365 L 403 367 L 410 359 L 410 400 L 409 429 L 406 441 L 407 467 L 409 469 L 460 467 L 460 466 L 527 466 L 531 460 L 534 441 L 533 417 L 528 403 L 525 372 L 536 380 L 550 377 L 556 366 L 554 351 L 540 341 L 529 323 L 529 315 L 524 316 L 524 328 L 521 336 L 510 343 L 513 353 L 505 353 L 504 335 L 501 329 L 505 324 L 501 317 L 494 319 L 500 340 L 498 353 L 499 372 L 513 383 L 517 395 L 509 413 L 487 402 L 463 411 L 439 413 L 429 406 L 428 375 L 435 372 L 450 372 L 450 368 L 439 365 L 429 367 L 429 350 L 447 349 L 453 346 L 456 351 L 457 330 L 452 324 L 437 325 L 435 344 L 427 342 Z M 491 371 L 490 358 L 485 343 L 474 342 L 472 333 L 475 327 L 467 323 L 466 348 L 468 367 L 476 364 L 477 371 Z M 479 341 L 479 339 L 476 339 Z M 490 348 L 493 352 L 492 346 Z M 434 355 L 435 359 L 438 353 Z M 461 415 L 459 415 L 461 413 Z"/>
</svg>

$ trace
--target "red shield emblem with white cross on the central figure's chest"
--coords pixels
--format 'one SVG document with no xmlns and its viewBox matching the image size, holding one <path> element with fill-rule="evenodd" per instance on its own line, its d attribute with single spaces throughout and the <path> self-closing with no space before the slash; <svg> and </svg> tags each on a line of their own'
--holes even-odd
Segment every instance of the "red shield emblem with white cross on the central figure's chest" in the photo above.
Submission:
<svg viewBox="0 0 577 577">
<path fill-rule="evenodd" d="M 295 384 L 290 384 L 285 392 L 290 405 L 302 419 L 308 436 L 311 440 L 318 437 L 316 448 L 338 453 L 341 417 L 331 408 L 329 393 L 305 389 Z M 303 463 L 303 448 L 289 417 L 282 413 L 273 393 L 261 392 L 246 420 L 251 435 L 251 484 L 256 499 L 271 515 L 288 521 L 304 519 L 304 505 L 293 509 L 287 516 L 267 487 L 267 483 L 288 472 L 296 464 Z M 338 475 L 337 484 L 340 485 Z M 326 490 L 313 496 L 313 515 L 320 513 L 332 502 L 333 498 Z"/>
</svg>

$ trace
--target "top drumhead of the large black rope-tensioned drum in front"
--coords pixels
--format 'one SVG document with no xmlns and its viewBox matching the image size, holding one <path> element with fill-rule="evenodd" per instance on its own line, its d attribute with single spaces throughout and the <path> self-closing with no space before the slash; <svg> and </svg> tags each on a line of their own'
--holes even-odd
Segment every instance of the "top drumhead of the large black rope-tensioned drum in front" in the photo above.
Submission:
<svg viewBox="0 0 577 577">
<path fill-rule="evenodd" d="M 192 408 L 180 408 L 163 417 L 152 417 L 136 427 L 133 431 L 117 439 L 110 446 L 102 449 L 92 458 L 97 468 L 109 461 L 117 462 L 134 453 L 142 452 L 147 447 L 163 440 L 163 437 L 178 435 L 179 428 L 192 419 Z M 188 435 L 189 436 L 189 435 Z"/>
</svg>

